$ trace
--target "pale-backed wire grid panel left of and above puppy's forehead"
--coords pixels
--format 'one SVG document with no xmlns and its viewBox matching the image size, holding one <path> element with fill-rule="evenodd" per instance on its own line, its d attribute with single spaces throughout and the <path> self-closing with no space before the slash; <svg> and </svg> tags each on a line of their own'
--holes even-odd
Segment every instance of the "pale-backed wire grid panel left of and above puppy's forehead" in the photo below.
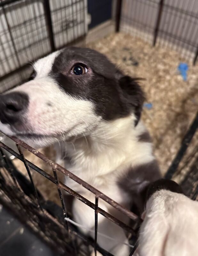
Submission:
<svg viewBox="0 0 198 256">
<path fill-rule="evenodd" d="M 27 81 L 27 64 L 84 36 L 86 15 L 86 0 L 0 0 L 0 92 Z"/>
</svg>

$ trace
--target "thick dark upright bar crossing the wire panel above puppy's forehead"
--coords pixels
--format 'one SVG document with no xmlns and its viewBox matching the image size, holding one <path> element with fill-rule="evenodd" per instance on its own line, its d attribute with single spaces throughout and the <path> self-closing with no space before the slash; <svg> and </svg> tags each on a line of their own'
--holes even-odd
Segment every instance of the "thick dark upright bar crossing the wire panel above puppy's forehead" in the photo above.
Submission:
<svg viewBox="0 0 198 256">
<path fill-rule="evenodd" d="M 52 28 L 51 10 L 50 10 L 49 0 L 44 0 L 43 5 L 44 5 L 45 19 L 46 19 L 46 24 L 47 24 L 47 29 L 48 29 L 51 51 L 54 52 L 56 50 L 56 47 L 54 44 L 54 33 L 53 33 L 53 28 Z"/>
</svg>

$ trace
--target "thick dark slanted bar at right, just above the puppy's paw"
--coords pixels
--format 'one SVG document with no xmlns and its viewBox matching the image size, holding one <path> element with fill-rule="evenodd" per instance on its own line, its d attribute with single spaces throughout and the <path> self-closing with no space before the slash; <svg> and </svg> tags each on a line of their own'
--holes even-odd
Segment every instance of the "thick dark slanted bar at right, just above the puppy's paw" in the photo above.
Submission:
<svg viewBox="0 0 198 256">
<path fill-rule="evenodd" d="M 171 179 L 173 174 L 175 173 L 181 159 L 183 158 L 186 149 L 188 148 L 188 145 L 190 143 L 190 141 L 192 140 L 194 133 L 196 132 L 198 127 L 198 112 L 194 118 L 193 123 L 191 124 L 190 128 L 188 129 L 186 135 L 184 136 L 184 139 L 181 143 L 181 147 L 177 153 L 177 155 L 175 156 L 174 160 L 172 161 L 172 164 L 170 165 L 166 175 L 165 175 L 165 179 Z"/>
</svg>

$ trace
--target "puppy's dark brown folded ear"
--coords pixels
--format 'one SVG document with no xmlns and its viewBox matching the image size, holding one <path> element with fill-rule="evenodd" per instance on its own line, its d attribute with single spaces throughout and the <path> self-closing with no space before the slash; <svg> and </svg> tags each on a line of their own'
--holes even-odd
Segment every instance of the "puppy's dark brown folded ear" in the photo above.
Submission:
<svg viewBox="0 0 198 256">
<path fill-rule="evenodd" d="M 116 76 L 119 81 L 120 88 L 123 91 L 123 96 L 127 101 L 127 105 L 134 111 L 134 114 L 136 116 L 135 125 L 137 125 L 141 116 L 142 107 L 145 100 L 144 92 L 142 91 L 138 82 L 144 79 L 123 76 L 121 73 L 117 73 Z"/>
</svg>

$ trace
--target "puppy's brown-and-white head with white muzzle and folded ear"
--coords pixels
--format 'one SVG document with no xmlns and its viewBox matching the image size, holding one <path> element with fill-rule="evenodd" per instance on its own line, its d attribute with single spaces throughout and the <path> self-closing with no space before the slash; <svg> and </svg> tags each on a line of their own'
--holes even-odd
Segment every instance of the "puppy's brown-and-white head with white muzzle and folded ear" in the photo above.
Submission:
<svg viewBox="0 0 198 256">
<path fill-rule="evenodd" d="M 104 55 L 67 47 L 36 61 L 33 79 L 0 95 L 0 130 L 34 147 L 89 135 L 100 122 L 134 114 L 143 93 Z"/>
</svg>

